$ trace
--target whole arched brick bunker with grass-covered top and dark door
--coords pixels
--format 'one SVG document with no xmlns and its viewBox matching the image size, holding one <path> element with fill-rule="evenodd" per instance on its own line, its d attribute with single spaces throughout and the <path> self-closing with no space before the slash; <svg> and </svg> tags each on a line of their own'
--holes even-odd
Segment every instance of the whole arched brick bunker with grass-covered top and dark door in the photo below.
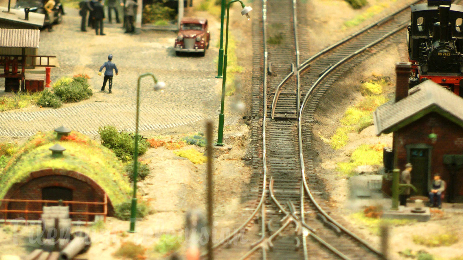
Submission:
<svg viewBox="0 0 463 260">
<path fill-rule="evenodd" d="M 113 152 L 79 133 L 70 136 L 38 133 L 12 156 L 0 174 L 0 218 L 38 219 L 37 211 L 61 199 L 73 220 L 92 221 L 93 213 L 113 216 L 130 198 L 128 178 Z M 49 150 L 56 143 L 66 149 L 62 155 Z"/>
</svg>

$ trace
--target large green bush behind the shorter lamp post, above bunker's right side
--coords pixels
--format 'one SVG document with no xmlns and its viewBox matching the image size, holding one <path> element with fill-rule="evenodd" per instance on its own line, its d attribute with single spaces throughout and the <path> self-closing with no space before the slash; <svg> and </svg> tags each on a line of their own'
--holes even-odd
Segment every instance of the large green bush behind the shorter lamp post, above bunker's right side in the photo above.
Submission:
<svg viewBox="0 0 463 260">
<path fill-rule="evenodd" d="M 132 133 L 126 131 L 118 132 L 111 125 L 99 127 L 98 133 L 100 134 L 101 144 L 113 150 L 120 160 L 125 162 L 133 159 L 135 136 Z M 142 136 L 138 136 L 138 138 L 138 155 L 143 155 L 150 146 L 150 143 Z"/>
</svg>

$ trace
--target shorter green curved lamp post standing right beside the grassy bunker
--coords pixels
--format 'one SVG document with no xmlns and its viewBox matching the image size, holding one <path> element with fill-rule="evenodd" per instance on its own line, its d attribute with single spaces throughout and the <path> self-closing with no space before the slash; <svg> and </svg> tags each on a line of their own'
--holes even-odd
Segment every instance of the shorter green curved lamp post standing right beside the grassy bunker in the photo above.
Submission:
<svg viewBox="0 0 463 260">
<path fill-rule="evenodd" d="M 154 91 L 160 90 L 166 86 L 162 81 L 157 81 L 152 73 L 145 73 L 138 76 L 137 84 L 137 114 L 135 123 L 135 149 L 133 151 L 133 197 L 130 209 L 130 233 L 135 233 L 135 219 L 137 217 L 137 177 L 138 177 L 138 116 L 140 111 L 140 80 L 143 77 L 151 76 L 154 80 Z"/>
</svg>

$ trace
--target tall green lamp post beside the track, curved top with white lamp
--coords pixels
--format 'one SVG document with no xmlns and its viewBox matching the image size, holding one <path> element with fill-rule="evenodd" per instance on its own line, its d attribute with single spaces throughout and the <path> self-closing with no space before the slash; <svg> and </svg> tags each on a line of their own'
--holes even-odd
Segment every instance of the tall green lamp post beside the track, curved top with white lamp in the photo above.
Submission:
<svg viewBox="0 0 463 260">
<path fill-rule="evenodd" d="M 225 34 L 225 55 L 224 55 L 224 66 L 223 66 L 223 78 L 222 78 L 222 99 L 220 101 L 220 114 L 219 114 L 219 131 L 217 133 L 217 146 L 223 146 L 223 137 L 224 137 L 224 103 L 225 103 L 225 81 L 227 78 L 227 50 L 228 50 L 228 16 L 230 13 L 230 5 L 234 2 L 240 2 L 243 10 L 241 10 L 241 15 L 246 15 L 248 20 L 250 19 L 249 12 L 252 11 L 252 7 L 245 6 L 241 0 L 232 0 L 228 2 L 227 5 L 227 27 Z M 223 23 L 222 23 L 223 25 Z M 220 63 L 220 54 L 219 54 L 219 63 Z M 220 66 L 220 64 L 219 64 Z M 219 67 L 220 68 L 220 67 Z"/>
</svg>

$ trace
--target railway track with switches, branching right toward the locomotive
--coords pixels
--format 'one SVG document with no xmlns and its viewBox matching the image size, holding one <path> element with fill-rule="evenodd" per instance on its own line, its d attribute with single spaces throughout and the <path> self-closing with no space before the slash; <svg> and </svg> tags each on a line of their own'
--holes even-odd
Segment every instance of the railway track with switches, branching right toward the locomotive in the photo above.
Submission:
<svg viewBox="0 0 463 260">
<path fill-rule="evenodd" d="M 366 56 L 352 58 L 403 30 L 409 7 L 303 62 L 307 39 L 300 45 L 299 37 L 307 32 L 298 26 L 299 17 L 305 13 L 297 0 L 263 0 L 262 20 L 253 24 L 254 37 L 263 39 L 253 41 L 253 50 L 263 53 L 253 61 L 252 138 L 262 140 L 254 147 L 255 174 L 247 197 L 253 210 L 243 212 L 243 224 L 214 245 L 214 254 L 217 259 L 382 259 L 320 202 L 326 194 L 309 156 L 314 150 L 311 124 L 326 90 Z M 244 229 L 251 241 L 239 243 L 237 234 Z"/>
</svg>

